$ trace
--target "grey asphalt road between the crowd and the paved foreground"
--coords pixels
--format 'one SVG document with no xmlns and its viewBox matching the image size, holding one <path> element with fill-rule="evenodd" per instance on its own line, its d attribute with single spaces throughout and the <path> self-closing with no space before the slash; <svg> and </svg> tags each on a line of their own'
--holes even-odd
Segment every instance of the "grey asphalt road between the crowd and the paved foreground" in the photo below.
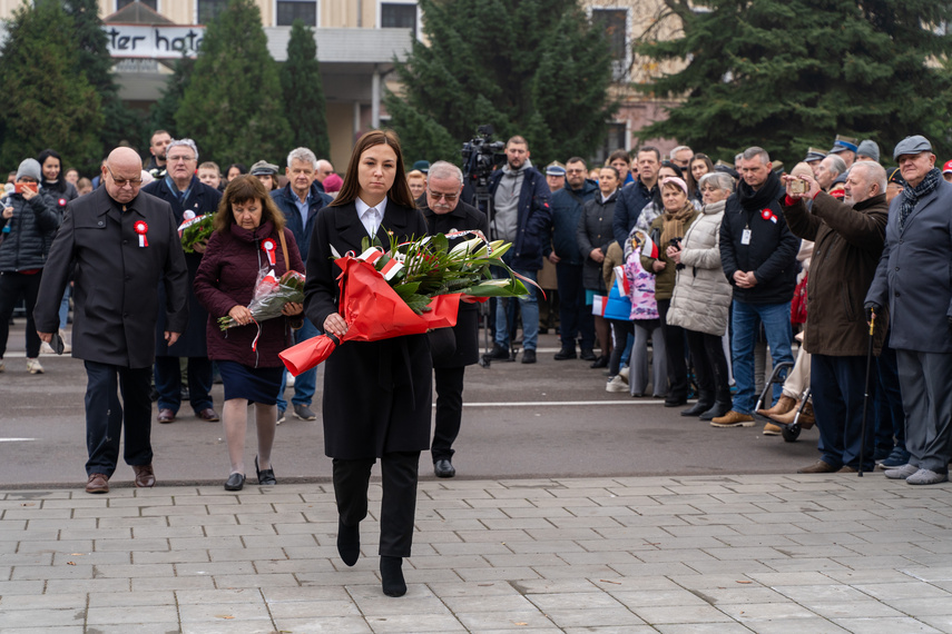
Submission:
<svg viewBox="0 0 952 634">
<path fill-rule="evenodd" d="M 0 483 L 3 486 L 78 486 L 86 482 L 82 361 L 43 356 L 46 374 L 26 372 L 22 319 L 11 328 L 7 372 L 0 374 Z M 605 392 L 602 370 L 581 360 L 556 361 L 554 335 L 540 337 L 539 363 L 494 361 L 467 369 L 463 423 L 454 448 L 458 478 L 531 478 L 793 473 L 813 463 L 816 429 L 796 443 L 763 436 L 762 426 L 716 429 L 679 416 L 658 400 Z M 320 373 L 321 370 L 318 370 Z M 278 481 L 328 481 L 320 418 L 288 416 L 278 427 Z M 220 413 L 222 386 L 213 390 Z M 288 389 L 287 396 L 291 396 Z M 228 460 L 220 423 L 195 418 L 186 405 L 170 425 L 153 424 L 159 482 L 224 482 Z M 254 469 L 254 430 L 246 447 Z M 421 476 L 433 477 L 430 455 Z M 254 475 L 252 474 L 252 478 Z M 130 483 L 120 465 L 114 484 Z"/>
</svg>

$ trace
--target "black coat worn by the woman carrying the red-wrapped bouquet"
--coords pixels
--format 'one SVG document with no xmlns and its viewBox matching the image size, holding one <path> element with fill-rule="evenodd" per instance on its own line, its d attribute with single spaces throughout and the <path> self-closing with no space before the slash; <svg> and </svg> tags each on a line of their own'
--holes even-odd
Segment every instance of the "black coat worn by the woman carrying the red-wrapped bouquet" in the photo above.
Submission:
<svg viewBox="0 0 952 634">
<path fill-rule="evenodd" d="M 377 238 L 390 244 L 426 234 L 418 209 L 387 201 Z M 366 230 L 353 202 L 317 212 L 307 252 L 304 313 L 318 328 L 337 313 L 341 268 L 334 252 L 361 252 Z M 390 452 L 430 448 L 432 361 L 426 335 L 382 341 L 347 341 L 334 350 L 324 368 L 324 450 L 334 458 L 372 458 Z"/>
</svg>

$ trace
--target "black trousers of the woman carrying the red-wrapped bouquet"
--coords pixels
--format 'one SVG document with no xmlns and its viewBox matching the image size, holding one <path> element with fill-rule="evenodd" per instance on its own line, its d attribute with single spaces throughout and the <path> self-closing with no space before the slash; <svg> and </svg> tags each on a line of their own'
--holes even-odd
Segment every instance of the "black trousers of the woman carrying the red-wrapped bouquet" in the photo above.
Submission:
<svg viewBox="0 0 952 634">
<path fill-rule="evenodd" d="M 334 496 L 346 526 L 367 516 L 367 487 L 376 458 L 334 458 Z M 420 452 L 393 452 L 380 460 L 383 497 L 380 503 L 380 556 L 409 557 L 416 515 L 416 475 Z"/>
</svg>

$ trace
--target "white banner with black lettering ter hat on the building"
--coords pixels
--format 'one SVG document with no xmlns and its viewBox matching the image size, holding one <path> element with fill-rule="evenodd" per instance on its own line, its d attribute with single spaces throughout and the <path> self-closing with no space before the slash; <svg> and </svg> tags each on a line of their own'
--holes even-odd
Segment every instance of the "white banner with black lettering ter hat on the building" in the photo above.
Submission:
<svg viewBox="0 0 952 634">
<path fill-rule="evenodd" d="M 198 55 L 205 27 L 163 24 L 104 24 L 112 57 L 177 59 Z"/>
</svg>

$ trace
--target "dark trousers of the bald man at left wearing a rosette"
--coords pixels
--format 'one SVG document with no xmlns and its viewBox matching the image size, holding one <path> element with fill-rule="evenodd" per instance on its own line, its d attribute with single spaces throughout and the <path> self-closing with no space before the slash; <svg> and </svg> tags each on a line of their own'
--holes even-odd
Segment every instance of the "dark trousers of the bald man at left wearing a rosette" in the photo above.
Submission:
<svg viewBox="0 0 952 634">
<path fill-rule="evenodd" d="M 89 452 L 86 475 L 112 475 L 119 460 L 119 436 L 124 428 L 126 464 L 150 465 L 151 368 L 128 368 L 97 361 L 85 361 L 85 365 L 86 448 Z M 119 392 L 122 394 L 121 403 Z"/>
</svg>

